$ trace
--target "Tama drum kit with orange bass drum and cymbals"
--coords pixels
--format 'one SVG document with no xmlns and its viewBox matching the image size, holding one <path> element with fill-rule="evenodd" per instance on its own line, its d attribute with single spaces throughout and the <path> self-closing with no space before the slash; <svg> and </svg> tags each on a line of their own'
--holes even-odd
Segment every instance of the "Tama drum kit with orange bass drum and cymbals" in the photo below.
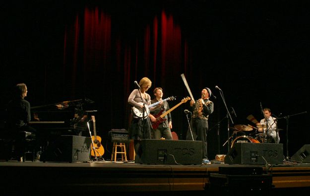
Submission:
<svg viewBox="0 0 310 196">
<path fill-rule="evenodd" d="M 257 128 L 251 125 L 235 125 L 230 129 L 234 130 L 233 134 L 230 136 L 231 139 L 231 147 L 235 143 L 274 143 L 273 138 L 270 135 L 263 134 L 258 130 L 263 128 L 262 125 L 258 125 Z"/>
</svg>

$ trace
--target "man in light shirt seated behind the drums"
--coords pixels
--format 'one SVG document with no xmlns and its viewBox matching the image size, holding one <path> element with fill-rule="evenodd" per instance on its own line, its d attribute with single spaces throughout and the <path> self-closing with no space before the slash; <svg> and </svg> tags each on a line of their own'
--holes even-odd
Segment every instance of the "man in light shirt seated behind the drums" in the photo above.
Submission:
<svg viewBox="0 0 310 196">
<path fill-rule="evenodd" d="M 264 135 L 271 136 L 274 143 L 279 143 L 280 136 L 279 132 L 277 132 L 276 118 L 271 116 L 271 110 L 269 108 L 264 108 L 263 112 L 265 118 L 261 119 L 259 123 L 256 123 L 257 130 L 263 132 Z"/>
</svg>

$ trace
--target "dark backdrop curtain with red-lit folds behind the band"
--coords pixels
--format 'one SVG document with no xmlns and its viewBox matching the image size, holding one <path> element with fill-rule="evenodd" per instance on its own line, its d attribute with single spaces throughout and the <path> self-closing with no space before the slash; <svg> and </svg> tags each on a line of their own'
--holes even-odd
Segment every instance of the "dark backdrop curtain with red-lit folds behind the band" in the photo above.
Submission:
<svg viewBox="0 0 310 196">
<path fill-rule="evenodd" d="M 27 84 L 31 106 L 88 98 L 98 134 L 128 129 L 133 81 L 161 86 L 170 106 L 204 87 L 217 99 L 210 116 L 210 158 L 226 154 L 226 109 L 235 125 L 251 124 L 271 108 L 281 143 L 292 156 L 309 144 L 309 7 L 297 1 L 149 0 L 139 2 L 33 0 L 1 3 L 1 110 L 13 85 Z M 185 138 L 188 103 L 172 112 L 173 130 Z M 231 109 L 230 109 L 231 110 Z M 2 113 L 3 114 L 3 113 Z M 253 124 L 251 124 L 253 125 Z M 286 129 L 288 125 L 288 130 Z M 230 122 L 229 126 L 233 126 Z M 288 132 L 288 134 L 287 134 Z M 288 138 L 289 146 L 286 142 Z M 219 142 L 218 142 L 219 141 Z"/>
</svg>

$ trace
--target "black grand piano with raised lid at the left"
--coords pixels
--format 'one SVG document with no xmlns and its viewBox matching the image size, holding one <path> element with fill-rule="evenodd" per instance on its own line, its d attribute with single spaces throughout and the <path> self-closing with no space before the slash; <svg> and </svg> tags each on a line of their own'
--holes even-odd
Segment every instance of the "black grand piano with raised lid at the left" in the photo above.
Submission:
<svg viewBox="0 0 310 196">
<path fill-rule="evenodd" d="M 31 107 L 29 126 L 47 145 L 60 135 L 90 136 L 87 122 L 96 110 L 85 108 L 93 107 L 93 103 L 90 99 L 78 99 Z"/>
</svg>

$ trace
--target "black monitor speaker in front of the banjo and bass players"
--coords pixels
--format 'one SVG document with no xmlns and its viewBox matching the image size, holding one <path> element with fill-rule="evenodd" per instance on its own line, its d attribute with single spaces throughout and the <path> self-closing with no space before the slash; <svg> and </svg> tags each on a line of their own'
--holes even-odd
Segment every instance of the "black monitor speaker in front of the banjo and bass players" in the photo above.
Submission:
<svg viewBox="0 0 310 196">
<path fill-rule="evenodd" d="M 139 163 L 198 165 L 202 163 L 202 141 L 142 139 Z"/>
</svg>

